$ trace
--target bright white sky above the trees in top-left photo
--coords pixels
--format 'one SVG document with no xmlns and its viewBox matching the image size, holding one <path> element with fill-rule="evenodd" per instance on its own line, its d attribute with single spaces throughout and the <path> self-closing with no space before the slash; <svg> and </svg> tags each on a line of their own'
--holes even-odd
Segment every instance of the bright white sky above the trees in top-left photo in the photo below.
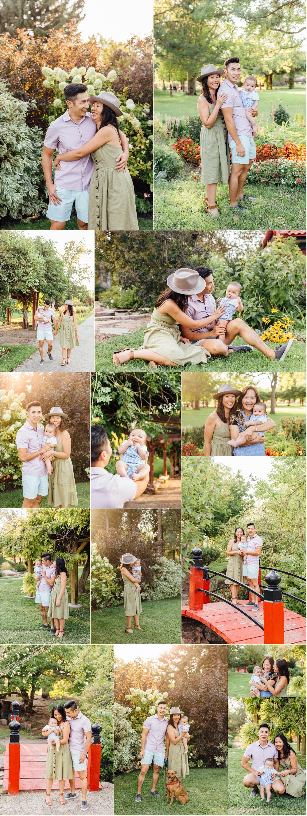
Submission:
<svg viewBox="0 0 307 816">
<path fill-rule="evenodd" d="M 106 40 L 125 42 L 131 34 L 144 37 L 153 29 L 152 0 L 86 0 L 85 11 L 79 25 L 84 41 L 101 34 Z"/>
</svg>

